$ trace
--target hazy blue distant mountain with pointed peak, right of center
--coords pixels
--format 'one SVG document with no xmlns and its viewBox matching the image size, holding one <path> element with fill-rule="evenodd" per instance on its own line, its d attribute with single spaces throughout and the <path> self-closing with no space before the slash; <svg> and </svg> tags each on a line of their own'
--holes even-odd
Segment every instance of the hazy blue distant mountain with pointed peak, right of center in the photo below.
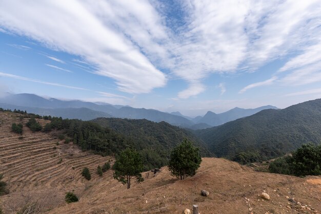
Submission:
<svg viewBox="0 0 321 214">
<path fill-rule="evenodd" d="M 253 115 L 257 112 L 260 112 L 265 109 L 277 109 L 275 106 L 266 105 L 256 109 L 241 109 L 241 108 L 234 108 L 227 112 L 215 114 L 211 111 L 207 112 L 203 118 L 199 118 L 198 120 L 193 120 L 195 123 L 207 123 L 211 126 L 217 126 L 224 124 L 226 122 L 236 120 L 238 118 L 247 117 Z"/>
</svg>

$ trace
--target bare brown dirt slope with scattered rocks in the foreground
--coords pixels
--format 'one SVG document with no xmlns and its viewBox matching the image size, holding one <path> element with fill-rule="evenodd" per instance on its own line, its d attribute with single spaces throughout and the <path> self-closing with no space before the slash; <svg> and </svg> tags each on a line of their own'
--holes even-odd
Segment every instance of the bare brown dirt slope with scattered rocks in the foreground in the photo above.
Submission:
<svg viewBox="0 0 321 214">
<path fill-rule="evenodd" d="M 50 213 L 184 213 L 193 204 L 205 213 L 291 213 L 287 208 L 291 182 L 296 205 L 293 213 L 320 213 L 321 177 L 296 178 L 258 173 L 225 159 L 204 158 L 196 176 L 180 181 L 170 176 L 166 167 L 155 176 L 144 173 L 145 181 L 126 186 L 105 176 L 86 191 L 81 200 Z M 308 179 L 308 181 L 307 181 Z M 200 196 L 200 190 L 210 192 Z M 259 195 L 266 192 L 270 201 Z M 167 207 L 167 208 L 163 208 Z M 159 209 L 163 208 L 163 209 Z M 158 210 L 156 210 L 158 209 Z M 314 209 L 314 210 L 313 210 Z"/>
</svg>

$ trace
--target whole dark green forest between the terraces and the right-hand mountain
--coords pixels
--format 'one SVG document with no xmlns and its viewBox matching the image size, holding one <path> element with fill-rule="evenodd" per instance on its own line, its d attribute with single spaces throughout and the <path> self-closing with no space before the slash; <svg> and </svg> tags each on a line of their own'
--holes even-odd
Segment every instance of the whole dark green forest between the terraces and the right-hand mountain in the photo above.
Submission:
<svg viewBox="0 0 321 214">
<path fill-rule="evenodd" d="M 127 147 L 137 149 L 146 170 L 167 165 L 171 148 L 185 138 L 195 142 L 203 156 L 210 156 L 206 146 L 191 133 L 166 122 L 112 118 L 81 121 L 61 117 L 50 120 L 43 129 L 45 132 L 61 131 L 83 150 L 114 156 Z"/>
</svg>

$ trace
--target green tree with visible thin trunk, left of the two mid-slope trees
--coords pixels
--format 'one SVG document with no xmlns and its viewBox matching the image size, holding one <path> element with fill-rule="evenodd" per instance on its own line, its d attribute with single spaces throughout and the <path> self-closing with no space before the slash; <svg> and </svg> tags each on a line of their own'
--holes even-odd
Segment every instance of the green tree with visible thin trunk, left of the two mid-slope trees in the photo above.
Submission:
<svg viewBox="0 0 321 214">
<path fill-rule="evenodd" d="M 144 181 L 141 174 L 144 168 L 142 157 L 133 149 L 126 148 L 122 151 L 119 156 L 116 157 L 113 168 L 115 169 L 114 179 L 123 184 L 127 183 L 127 189 L 130 188 L 130 181 L 133 177 L 136 178 L 137 183 Z"/>
</svg>

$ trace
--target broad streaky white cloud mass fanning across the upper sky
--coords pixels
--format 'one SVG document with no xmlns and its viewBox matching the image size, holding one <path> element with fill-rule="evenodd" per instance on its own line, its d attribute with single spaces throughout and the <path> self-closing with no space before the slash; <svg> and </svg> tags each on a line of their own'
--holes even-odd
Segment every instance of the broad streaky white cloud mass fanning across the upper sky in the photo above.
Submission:
<svg viewBox="0 0 321 214">
<path fill-rule="evenodd" d="M 167 77 L 178 77 L 189 87 L 177 96 L 188 98 L 202 93 L 203 80 L 213 73 L 253 72 L 289 56 L 282 71 L 321 60 L 319 0 L 180 4 L 184 23 L 176 28 L 162 2 L 3 1 L 0 26 L 79 56 L 129 93 L 148 93 L 163 87 Z"/>
</svg>

